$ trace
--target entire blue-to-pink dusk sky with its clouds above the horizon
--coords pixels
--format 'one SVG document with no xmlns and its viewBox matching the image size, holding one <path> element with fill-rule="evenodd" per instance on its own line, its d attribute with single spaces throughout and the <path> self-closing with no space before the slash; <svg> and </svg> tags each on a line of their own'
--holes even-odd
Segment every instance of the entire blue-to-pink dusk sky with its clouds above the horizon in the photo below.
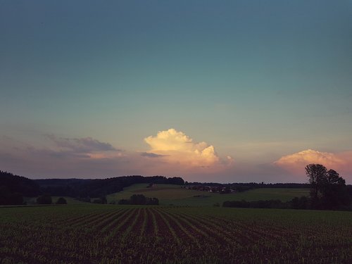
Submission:
<svg viewBox="0 0 352 264">
<path fill-rule="evenodd" d="M 0 170 L 352 184 L 352 1 L 0 1 Z"/>
</svg>

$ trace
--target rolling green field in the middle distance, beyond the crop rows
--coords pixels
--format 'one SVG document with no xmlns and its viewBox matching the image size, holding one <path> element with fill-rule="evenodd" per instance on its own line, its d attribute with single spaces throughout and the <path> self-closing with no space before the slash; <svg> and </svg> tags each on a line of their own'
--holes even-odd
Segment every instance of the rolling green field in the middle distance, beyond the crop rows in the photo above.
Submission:
<svg viewBox="0 0 352 264">
<path fill-rule="evenodd" d="M 133 184 L 116 194 L 109 195 L 108 201 L 128 199 L 132 194 L 144 194 L 147 197 L 156 197 L 163 206 L 213 206 L 224 201 L 270 200 L 279 199 L 289 201 L 295 196 L 308 196 L 308 189 L 252 189 L 234 194 L 214 194 L 208 191 L 196 191 L 181 188 L 180 185 L 157 184 L 156 187 L 146 188 L 147 184 Z"/>
</svg>

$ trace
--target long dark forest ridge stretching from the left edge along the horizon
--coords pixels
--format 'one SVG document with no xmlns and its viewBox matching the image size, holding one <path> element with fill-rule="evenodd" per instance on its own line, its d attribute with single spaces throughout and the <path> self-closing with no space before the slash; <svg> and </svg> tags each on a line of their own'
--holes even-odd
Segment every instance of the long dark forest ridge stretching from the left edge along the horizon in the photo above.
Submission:
<svg viewBox="0 0 352 264">
<path fill-rule="evenodd" d="M 0 170 L 0 205 L 23 204 L 23 197 L 36 197 L 42 194 L 70 196 L 77 199 L 96 198 L 122 191 L 137 183 L 184 184 L 181 177 L 164 176 L 123 176 L 107 179 L 45 179 L 30 180 Z"/>
</svg>

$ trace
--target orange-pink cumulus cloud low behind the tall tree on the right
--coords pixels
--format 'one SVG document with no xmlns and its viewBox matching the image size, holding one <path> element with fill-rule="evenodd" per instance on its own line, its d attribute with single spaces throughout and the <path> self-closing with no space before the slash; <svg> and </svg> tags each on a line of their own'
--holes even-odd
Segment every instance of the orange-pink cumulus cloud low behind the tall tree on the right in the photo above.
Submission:
<svg viewBox="0 0 352 264">
<path fill-rule="evenodd" d="M 351 164 L 351 151 L 341 153 L 320 152 L 312 149 L 300 151 L 287 156 L 282 156 L 274 164 L 293 172 L 294 174 L 304 175 L 304 168 L 310 163 L 325 165 L 327 168 L 333 168 L 344 172 L 351 173 L 348 164 Z"/>
</svg>

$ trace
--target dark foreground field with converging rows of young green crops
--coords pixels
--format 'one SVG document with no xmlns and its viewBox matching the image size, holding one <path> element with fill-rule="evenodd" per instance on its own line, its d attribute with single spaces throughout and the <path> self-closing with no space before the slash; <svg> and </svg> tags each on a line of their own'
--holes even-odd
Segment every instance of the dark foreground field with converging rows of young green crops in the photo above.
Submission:
<svg viewBox="0 0 352 264">
<path fill-rule="evenodd" d="M 0 208 L 0 263 L 352 263 L 352 213 Z"/>
</svg>

